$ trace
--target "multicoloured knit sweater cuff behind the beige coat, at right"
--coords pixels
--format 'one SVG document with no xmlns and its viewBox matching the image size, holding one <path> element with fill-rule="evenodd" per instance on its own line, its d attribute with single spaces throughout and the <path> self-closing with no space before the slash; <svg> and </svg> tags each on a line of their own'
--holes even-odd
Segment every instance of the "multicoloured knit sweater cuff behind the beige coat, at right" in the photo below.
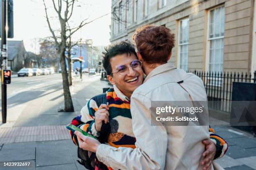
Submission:
<svg viewBox="0 0 256 170">
<path fill-rule="evenodd" d="M 225 153 L 228 150 L 228 143 L 219 135 L 216 135 L 214 129 L 212 129 L 211 127 L 209 128 L 209 133 L 210 140 L 212 140 L 212 142 L 215 143 L 217 148 L 214 159 L 223 157 L 223 155 L 225 155 Z"/>
</svg>

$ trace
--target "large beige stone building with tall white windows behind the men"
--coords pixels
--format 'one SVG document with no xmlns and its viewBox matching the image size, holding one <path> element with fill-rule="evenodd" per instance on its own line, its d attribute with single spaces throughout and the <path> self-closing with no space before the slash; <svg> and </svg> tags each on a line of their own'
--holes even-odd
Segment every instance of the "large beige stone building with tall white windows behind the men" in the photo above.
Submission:
<svg viewBox="0 0 256 170">
<path fill-rule="evenodd" d="M 141 25 L 176 35 L 169 62 L 184 70 L 256 70 L 255 0 L 112 0 L 110 42 L 131 40 Z M 120 20 L 119 20 L 120 19 Z"/>
</svg>

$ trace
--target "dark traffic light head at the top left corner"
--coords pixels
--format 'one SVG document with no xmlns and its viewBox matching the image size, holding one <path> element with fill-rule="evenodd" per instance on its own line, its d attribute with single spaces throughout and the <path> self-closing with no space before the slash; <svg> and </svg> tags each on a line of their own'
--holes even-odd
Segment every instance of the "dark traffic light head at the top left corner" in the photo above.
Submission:
<svg viewBox="0 0 256 170">
<path fill-rule="evenodd" d="M 2 18 L 2 2 L 0 0 L 0 20 Z M 13 38 L 13 0 L 7 0 L 7 25 L 8 25 L 8 32 L 7 37 Z M 1 28 L 1 22 L 0 22 L 0 28 Z M 1 31 L 0 31 L 0 37 L 1 37 Z"/>
</svg>

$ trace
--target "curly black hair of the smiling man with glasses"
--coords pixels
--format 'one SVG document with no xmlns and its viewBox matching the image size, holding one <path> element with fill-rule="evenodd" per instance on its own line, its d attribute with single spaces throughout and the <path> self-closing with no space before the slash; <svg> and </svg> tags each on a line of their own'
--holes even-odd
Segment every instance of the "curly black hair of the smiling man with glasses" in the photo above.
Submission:
<svg viewBox="0 0 256 170">
<path fill-rule="evenodd" d="M 102 52 L 102 64 L 107 74 L 110 75 L 112 72 L 110 58 L 122 54 L 129 54 L 131 56 L 132 53 L 137 57 L 135 45 L 133 45 L 130 41 L 121 41 L 119 43 L 105 47 L 105 52 Z"/>
</svg>

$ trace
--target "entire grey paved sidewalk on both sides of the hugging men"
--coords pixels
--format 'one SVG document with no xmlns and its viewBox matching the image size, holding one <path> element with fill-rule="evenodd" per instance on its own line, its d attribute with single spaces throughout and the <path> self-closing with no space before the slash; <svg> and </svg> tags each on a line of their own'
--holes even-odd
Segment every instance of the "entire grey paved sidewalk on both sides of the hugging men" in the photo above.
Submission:
<svg viewBox="0 0 256 170">
<path fill-rule="evenodd" d="M 63 95 L 52 93 L 40 109 L 37 102 L 25 108 L 15 121 L 0 125 L 0 170 L 84 170 L 77 163 L 77 147 L 65 128 L 90 97 L 108 87 L 100 76 L 78 77 L 72 86 L 74 112 L 57 112 L 63 108 Z M 85 81 L 86 80 L 86 81 Z M 50 100 L 49 100 L 50 99 Z M 42 101 L 41 101 L 42 102 Z M 210 121 L 215 121 L 210 119 Z M 227 140 L 229 149 L 216 160 L 226 170 L 256 169 L 256 138 L 229 126 L 214 126 L 216 134 Z M 30 163 L 28 167 L 3 166 L 6 162 Z"/>
</svg>

